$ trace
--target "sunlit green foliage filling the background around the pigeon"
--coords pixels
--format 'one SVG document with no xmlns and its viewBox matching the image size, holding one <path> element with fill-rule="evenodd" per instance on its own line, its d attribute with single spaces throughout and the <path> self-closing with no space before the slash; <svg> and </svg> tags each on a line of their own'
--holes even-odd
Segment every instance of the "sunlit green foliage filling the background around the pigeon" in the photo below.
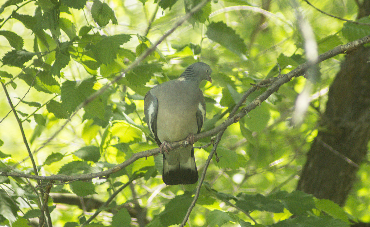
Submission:
<svg viewBox="0 0 370 227">
<path fill-rule="evenodd" d="M 0 171 L 34 174 L 32 153 L 40 175 L 78 177 L 108 170 L 139 151 L 156 148 L 145 124 L 144 95 L 151 86 L 177 78 L 191 63 L 203 61 L 213 70 L 213 83 L 201 83 L 207 109 L 203 130 L 208 131 L 225 121 L 250 83 L 277 76 L 279 67 L 287 73 L 305 62 L 305 40 L 292 13 L 293 1 L 272 1 L 268 7 L 257 0 L 208 1 L 184 24 L 176 24 L 200 2 L 2 3 L 0 82 L 5 89 L 0 93 Z M 314 30 L 319 54 L 369 34 L 367 25 L 343 24 L 299 4 L 298 11 Z M 340 17 L 354 18 L 357 13 L 351 0 L 313 4 Z M 369 23 L 368 18 L 359 21 Z M 178 27 L 138 61 L 173 26 Z M 301 125 L 292 127 L 289 121 L 306 82 L 298 77 L 251 111 L 249 118 L 227 128 L 217 149 L 219 162 L 214 156 L 208 167 L 189 226 L 344 227 L 350 219 L 370 221 L 369 207 L 363 206 L 370 203 L 368 164 L 360 168 L 360 181 L 344 208 L 294 190 L 327 100 L 326 95 L 317 94 L 327 91 L 342 58 L 334 56 L 319 64 L 321 78 L 313 85 Z M 259 88 L 246 102 L 266 89 Z M 20 118 L 24 138 L 6 93 Z M 209 141 L 200 139 L 196 146 Z M 195 152 L 200 174 L 211 149 Z M 196 185 L 165 186 L 161 161 L 161 155 L 141 158 L 107 178 L 91 181 L 41 182 L 0 176 L 0 225 L 25 226 L 40 217 L 43 203 L 54 226 L 180 224 Z M 75 194 L 100 203 L 94 208 L 76 203 L 55 206 L 38 191 L 47 185 L 53 186 L 51 198 Z M 105 201 L 109 203 L 102 205 Z M 91 210 L 101 213 L 87 221 Z"/>
</svg>

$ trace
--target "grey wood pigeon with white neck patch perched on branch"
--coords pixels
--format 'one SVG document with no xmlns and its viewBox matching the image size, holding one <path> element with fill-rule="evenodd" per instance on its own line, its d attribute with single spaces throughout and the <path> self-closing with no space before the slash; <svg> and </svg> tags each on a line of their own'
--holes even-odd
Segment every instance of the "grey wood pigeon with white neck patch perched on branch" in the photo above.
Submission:
<svg viewBox="0 0 370 227">
<path fill-rule="evenodd" d="M 167 185 L 194 184 L 198 181 L 194 134 L 201 131 L 206 114 L 199 83 L 202 80 L 212 83 L 211 72 L 206 63 L 194 63 L 178 79 L 154 86 L 145 95 L 145 119 L 163 154 L 162 179 Z M 190 144 L 185 148 L 172 149 L 169 145 L 184 139 Z M 171 149 L 169 152 L 168 148 Z"/>
</svg>

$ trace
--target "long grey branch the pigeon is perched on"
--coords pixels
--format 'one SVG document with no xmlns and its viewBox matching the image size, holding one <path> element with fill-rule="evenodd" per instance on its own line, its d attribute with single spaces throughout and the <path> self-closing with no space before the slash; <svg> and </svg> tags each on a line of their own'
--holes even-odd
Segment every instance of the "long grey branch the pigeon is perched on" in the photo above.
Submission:
<svg viewBox="0 0 370 227">
<path fill-rule="evenodd" d="M 344 53 L 349 50 L 356 49 L 359 46 L 364 45 L 365 43 L 370 43 L 370 35 L 365 36 L 361 39 L 357 39 L 353 42 L 347 43 L 345 45 L 340 45 L 337 47 L 334 47 L 332 50 L 329 50 L 322 55 L 319 55 L 319 60 L 318 62 L 322 62 L 326 59 L 329 59 L 330 57 L 339 55 L 340 53 Z M 201 134 L 195 135 L 195 139 L 199 140 L 201 138 L 209 137 L 216 135 L 218 132 L 225 130 L 228 126 L 232 125 L 235 122 L 238 122 L 240 118 L 243 118 L 249 111 L 252 109 L 256 108 L 256 106 L 260 105 L 261 102 L 265 101 L 273 92 L 277 91 L 280 86 L 282 86 L 284 83 L 290 81 L 293 77 L 301 76 L 305 72 L 307 68 L 309 68 L 310 64 L 309 63 L 303 63 L 299 65 L 296 69 L 290 71 L 287 74 L 280 75 L 276 78 L 270 78 L 268 81 L 271 81 L 271 86 L 263 92 L 261 95 L 259 95 L 253 102 L 250 102 L 246 107 L 242 108 L 241 111 L 233 116 L 230 119 L 227 119 L 224 121 L 221 125 L 206 131 L 202 132 Z M 262 81 L 265 82 L 265 81 Z M 171 143 L 172 148 L 177 148 L 180 146 L 186 145 L 186 141 L 179 141 L 179 142 L 174 142 Z M 22 174 L 22 173 L 17 173 L 17 172 L 0 172 L 0 175 L 2 176 L 11 176 L 11 177 L 23 177 L 23 178 L 30 178 L 30 179 L 35 179 L 35 180 L 57 180 L 57 181 L 73 181 L 73 180 L 90 180 L 92 178 L 101 178 L 108 176 L 114 172 L 117 172 L 121 170 L 122 168 L 127 167 L 128 165 L 132 164 L 134 161 L 136 161 L 139 158 L 144 158 L 144 157 L 149 157 L 151 155 L 155 155 L 159 153 L 159 148 L 154 148 L 150 149 L 147 151 L 142 151 L 133 154 L 129 159 L 126 161 L 116 165 L 113 168 L 110 168 L 105 171 L 101 172 L 96 172 L 96 173 L 90 173 L 90 174 L 81 174 L 81 175 L 51 175 L 51 176 L 35 176 L 31 174 Z"/>
</svg>

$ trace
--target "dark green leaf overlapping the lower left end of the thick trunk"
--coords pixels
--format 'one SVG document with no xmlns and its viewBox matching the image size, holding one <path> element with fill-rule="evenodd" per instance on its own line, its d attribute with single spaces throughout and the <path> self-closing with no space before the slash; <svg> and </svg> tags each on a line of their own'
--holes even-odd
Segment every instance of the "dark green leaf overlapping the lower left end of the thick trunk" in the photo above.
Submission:
<svg viewBox="0 0 370 227">
<path fill-rule="evenodd" d="M 315 208 L 313 196 L 303 191 L 293 191 L 282 198 L 282 203 L 292 214 L 300 215 Z"/>
</svg>

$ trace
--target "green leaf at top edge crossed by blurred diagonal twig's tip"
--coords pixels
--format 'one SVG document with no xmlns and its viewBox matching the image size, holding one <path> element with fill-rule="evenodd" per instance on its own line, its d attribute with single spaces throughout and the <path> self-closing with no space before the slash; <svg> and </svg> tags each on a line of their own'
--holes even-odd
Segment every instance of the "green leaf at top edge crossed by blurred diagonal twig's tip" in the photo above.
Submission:
<svg viewBox="0 0 370 227">
<path fill-rule="evenodd" d="M 195 6 L 202 2 L 202 0 L 185 0 L 185 12 L 188 13 Z M 205 4 L 201 9 L 196 11 L 191 17 L 189 17 L 188 22 L 193 26 L 196 22 L 205 23 L 206 20 L 209 21 L 209 14 L 211 13 L 211 2 Z"/>
</svg>

